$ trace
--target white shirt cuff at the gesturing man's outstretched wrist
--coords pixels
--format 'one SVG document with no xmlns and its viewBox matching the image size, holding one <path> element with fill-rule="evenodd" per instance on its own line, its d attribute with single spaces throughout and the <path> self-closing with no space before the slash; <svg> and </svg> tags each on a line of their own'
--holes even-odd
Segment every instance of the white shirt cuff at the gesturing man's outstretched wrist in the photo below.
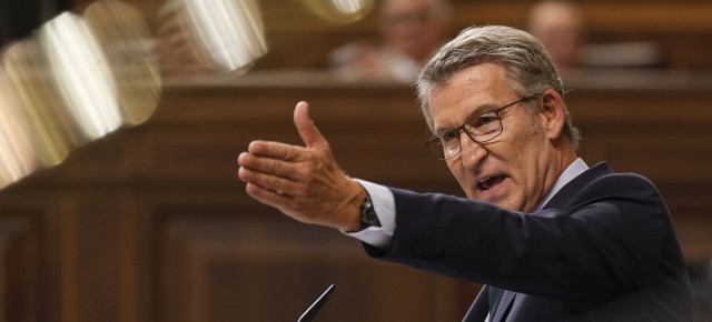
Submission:
<svg viewBox="0 0 712 322">
<path fill-rule="evenodd" d="M 359 179 L 354 180 L 366 189 L 374 204 L 376 217 L 380 221 L 380 227 L 368 227 L 357 232 L 342 232 L 382 250 L 388 249 L 396 228 L 396 207 L 393 192 L 385 185 Z"/>
</svg>

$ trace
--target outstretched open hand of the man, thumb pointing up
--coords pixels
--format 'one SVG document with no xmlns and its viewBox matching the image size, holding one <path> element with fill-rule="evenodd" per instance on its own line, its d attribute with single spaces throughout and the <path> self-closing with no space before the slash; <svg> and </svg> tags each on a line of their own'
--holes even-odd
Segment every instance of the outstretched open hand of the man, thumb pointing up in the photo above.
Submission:
<svg viewBox="0 0 712 322">
<path fill-rule="evenodd" d="M 297 103 L 294 123 L 306 147 L 257 140 L 237 158 L 247 194 L 300 222 L 359 230 L 366 191 L 336 164 L 306 102 Z"/>
</svg>

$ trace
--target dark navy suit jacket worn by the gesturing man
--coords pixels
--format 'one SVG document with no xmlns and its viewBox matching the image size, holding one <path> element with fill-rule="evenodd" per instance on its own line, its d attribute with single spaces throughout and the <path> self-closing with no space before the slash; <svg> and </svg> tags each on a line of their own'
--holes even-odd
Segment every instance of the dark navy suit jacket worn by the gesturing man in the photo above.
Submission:
<svg viewBox="0 0 712 322">
<path fill-rule="evenodd" d="M 493 321 L 690 321 L 670 212 L 645 178 L 596 164 L 535 213 L 390 189 L 396 230 L 375 258 L 505 292 Z M 488 286 L 464 321 L 484 321 Z"/>
</svg>

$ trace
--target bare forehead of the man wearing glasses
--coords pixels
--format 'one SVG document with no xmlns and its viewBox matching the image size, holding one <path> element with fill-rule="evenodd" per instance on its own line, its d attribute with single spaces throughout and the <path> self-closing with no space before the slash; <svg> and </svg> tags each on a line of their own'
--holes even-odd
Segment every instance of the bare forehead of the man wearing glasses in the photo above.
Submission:
<svg viewBox="0 0 712 322">
<path fill-rule="evenodd" d="M 453 127 L 479 110 L 484 112 L 515 97 L 502 66 L 479 63 L 455 73 L 445 85 L 431 91 L 428 103 L 437 129 Z"/>
</svg>

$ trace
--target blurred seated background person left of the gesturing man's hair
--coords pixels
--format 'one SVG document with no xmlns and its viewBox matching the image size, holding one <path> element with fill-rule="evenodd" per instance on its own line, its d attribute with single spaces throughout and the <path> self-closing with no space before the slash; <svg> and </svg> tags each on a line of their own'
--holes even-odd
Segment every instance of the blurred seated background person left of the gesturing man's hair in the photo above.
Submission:
<svg viewBox="0 0 712 322">
<path fill-rule="evenodd" d="M 431 54 L 448 38 L 447 0 L 383 0 L 378 41 L 360 40 L 334 50 L 332 70 L 346 80 L 413 82 Z"/>
</svg>

